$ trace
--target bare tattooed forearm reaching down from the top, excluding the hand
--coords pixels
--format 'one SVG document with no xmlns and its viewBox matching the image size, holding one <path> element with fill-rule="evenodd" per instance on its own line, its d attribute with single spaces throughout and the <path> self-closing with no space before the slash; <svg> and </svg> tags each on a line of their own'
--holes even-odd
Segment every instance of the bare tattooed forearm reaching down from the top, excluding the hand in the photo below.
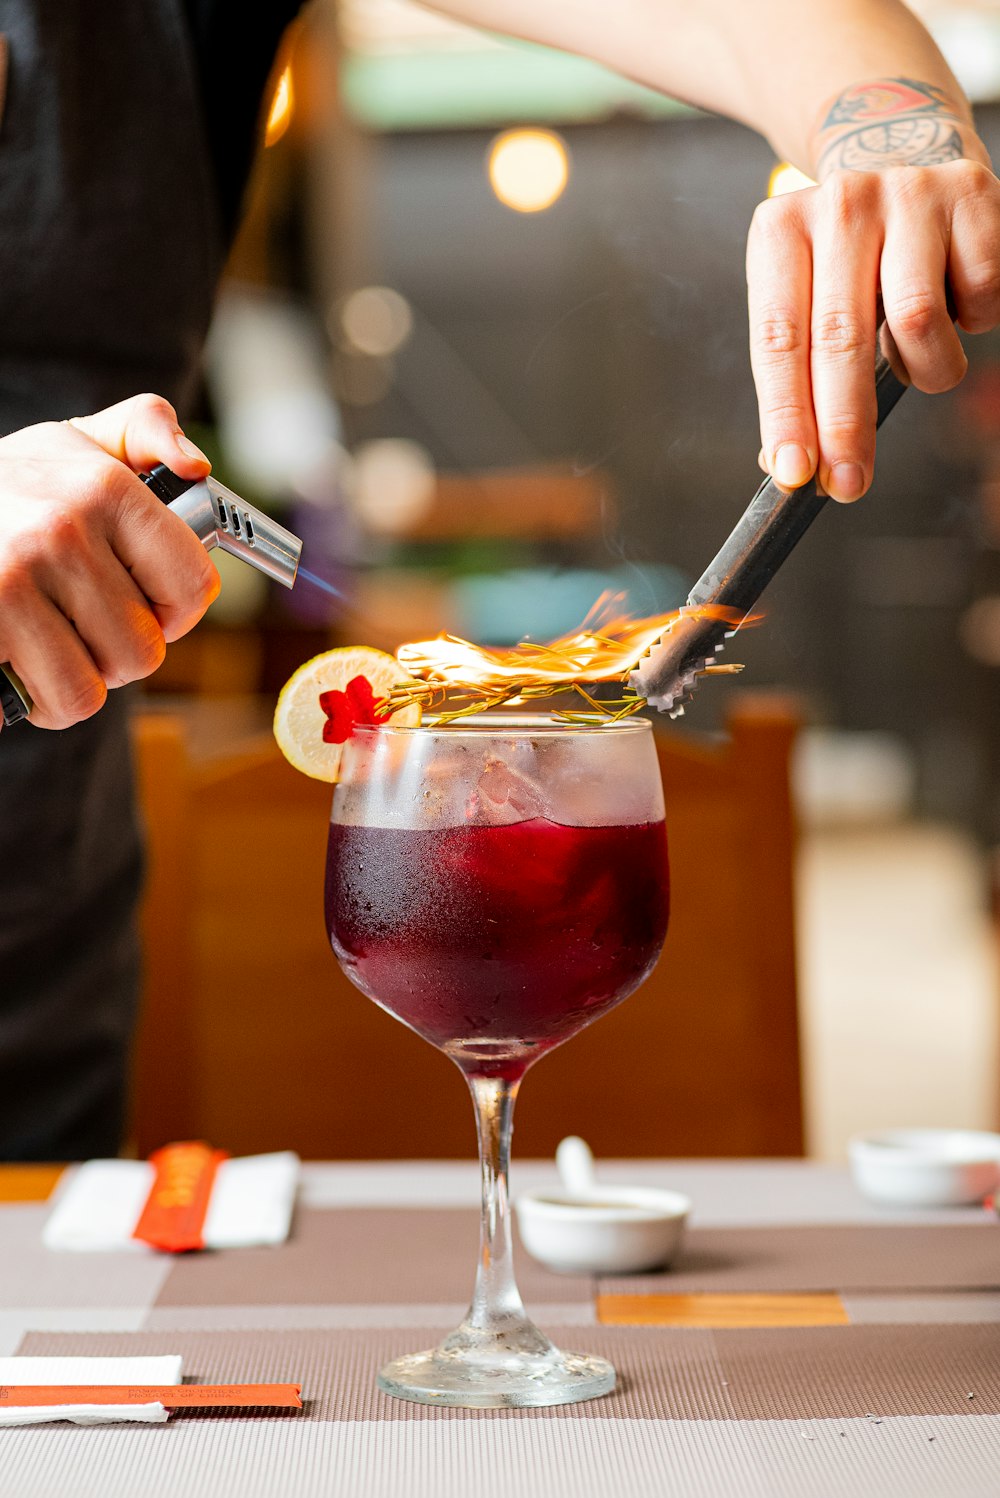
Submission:
<svg viewBox="0 0 1000 1498">
<path fill-rule="evenodd" d="M 960 154 L 988 163 L 955 76 L 903 0 L 615 0 L 611 24 L 608 0 L 433 6 L 741 120 L 813 177 Z"/>
</svg>

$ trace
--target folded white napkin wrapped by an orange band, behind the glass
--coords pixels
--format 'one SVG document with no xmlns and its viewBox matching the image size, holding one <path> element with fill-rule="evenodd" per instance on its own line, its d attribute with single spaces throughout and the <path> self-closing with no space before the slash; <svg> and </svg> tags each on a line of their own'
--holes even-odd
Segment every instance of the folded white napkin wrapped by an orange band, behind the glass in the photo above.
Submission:
<svg viewBox="0 0 1000 1498">
<path fill-rule="evenodd" d="M 283 1243 L 292 1224 L 299 1158 L 290 1150 L 223 1159 L 205 1215 L 205 1248 Z M 90 1159 L 55 1194 L 46 1248 L 156 1252 L 132 1237 L 153 1185 L 144 1159 Z"/>
</svg>

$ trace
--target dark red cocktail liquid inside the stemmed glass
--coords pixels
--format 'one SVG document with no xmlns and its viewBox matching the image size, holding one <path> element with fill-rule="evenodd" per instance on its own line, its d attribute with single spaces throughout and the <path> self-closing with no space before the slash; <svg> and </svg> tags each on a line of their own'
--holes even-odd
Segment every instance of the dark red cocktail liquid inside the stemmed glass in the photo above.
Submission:
<svg viewBox="0 0 1000 1498">
<path fill-rule="evenodd" d="M 326 929 L 341 966 L 490 1076 L 519 1076 L 632 993 L 666 921 L 662 821 L 329 830 Z"/>
</svg>

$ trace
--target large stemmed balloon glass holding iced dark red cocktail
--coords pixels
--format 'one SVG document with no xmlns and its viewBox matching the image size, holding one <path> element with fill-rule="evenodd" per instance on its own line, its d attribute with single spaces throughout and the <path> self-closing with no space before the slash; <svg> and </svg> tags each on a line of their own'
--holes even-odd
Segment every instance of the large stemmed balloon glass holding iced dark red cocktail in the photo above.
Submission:
<svg viewBox="0 0 1000 1498">
<path fill-rule="evenodd" d="M 510 1122 L 527 1068 L 632 993 L 668 921 L 650 724 L 493 715 L 356 728 L 334 789 L 326 929 L 349 978 L 461 1068 L 479 1126 L 481 1251 L 466 1320 L 379 1387 L 422 1404 L 555 1405 L 614 1389 L 563 1353 L 513 1278 Z"/>
</svg>

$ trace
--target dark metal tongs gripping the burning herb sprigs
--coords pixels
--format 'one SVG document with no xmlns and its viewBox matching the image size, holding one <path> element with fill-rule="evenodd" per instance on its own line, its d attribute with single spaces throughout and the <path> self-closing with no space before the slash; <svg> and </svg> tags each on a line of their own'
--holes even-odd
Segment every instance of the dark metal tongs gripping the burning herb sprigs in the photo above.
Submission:
<svg viewBox="0 0 1000 1498">
<path fill-rule="evenodd" d="M 907 388 L 889 364 L 886 343 L 891 345 L 891 339 L 883 322 L 876 337 L 874 369 L 879 425 Z M 737 634 L 825 505 L 826 496 L 817 491 L 814 479 L 790 494 L 772 478 L 763 481 L 722 551 L 692 589 L 680 617 L 629 677 L 641 697 L 671 718 L 681 716 L 705 667 L 716 662 L 726 640 Z M 705 617 L 699 611 L 707 604 L 725 608 L 726 616 Z"/>
</svg>

